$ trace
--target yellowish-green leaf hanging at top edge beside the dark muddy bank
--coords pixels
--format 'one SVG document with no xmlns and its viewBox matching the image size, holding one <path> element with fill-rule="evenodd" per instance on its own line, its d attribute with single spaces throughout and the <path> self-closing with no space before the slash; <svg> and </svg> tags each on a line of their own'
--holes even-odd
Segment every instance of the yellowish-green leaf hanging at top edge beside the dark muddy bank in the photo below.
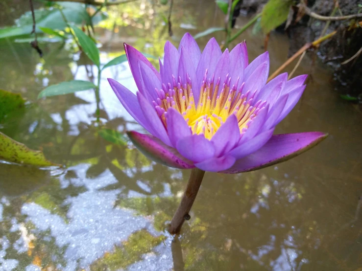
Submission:
<svg viewBox="0 0 362 271">
<path fill-rule="evenodd" d="M 293 0 L 269 0 L 262 11 L 262 29 L 269 33 L 277 26 L 287 21 L 288 13 Z"/>
</svg>

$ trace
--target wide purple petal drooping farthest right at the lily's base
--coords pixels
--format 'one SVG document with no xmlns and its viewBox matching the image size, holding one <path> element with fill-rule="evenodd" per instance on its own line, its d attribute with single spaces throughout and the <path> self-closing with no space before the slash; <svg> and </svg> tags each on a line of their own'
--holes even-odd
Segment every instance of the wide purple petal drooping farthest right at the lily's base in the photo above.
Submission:
<svg viewBox="0 0 362 271">
<path fill-rule="evenodd" d="M 223 173 L 253 171 L 284 162 L 308 151 L 327 136 L 328 134 L 321 132 L 274 135 L 258 151 L 237 160 Z"/>
</svg>

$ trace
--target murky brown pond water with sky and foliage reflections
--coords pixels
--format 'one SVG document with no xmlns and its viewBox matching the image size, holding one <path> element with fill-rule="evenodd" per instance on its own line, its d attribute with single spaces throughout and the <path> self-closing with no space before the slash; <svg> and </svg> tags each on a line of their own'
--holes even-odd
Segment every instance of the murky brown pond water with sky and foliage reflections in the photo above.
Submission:
<svg viewBox="0 0 362 271">
<path fill-rule="evenodd" d="M 187 31 L 223 25 L 214 1 L 175 1 L 169 38 L 159 15 L 167 12 L 148 1 L 111 9 L 113 15 L 96 29 L 101 62 L 123 53 L 123 42 L 158 56 L 168 39 L 178 45 Z M 237 27 L 247 20 L 239 18 Z M 220 43 L 224 33 L 215 37 Z M 209 38 L 198 40 L 202 48 Z M 243 39 L 249 60 L 263 52 L 261 34 L 248 29 L 239 42 Z M 271 71 L 287 59 L 288 46 L 285 35 L 271 35 Z M 156 164 L 131 144 L 113 145 L 97 136 L 93 91 L 37 101 L 48 85 L 97 74 L 69 44 L 41 47 L 43 61 L 28 44 L 0 45 L 1 89 L 30 102 L 0 131 L 67 167 L 0 163 L 0 270 L 362 270 L 361 107 L 338 97 L 332 71 L 318 60 L 313 64 L 312 55 L 295 74 L 313 74 L 307 89 L 276 133 L 323 131 L 329 137 L 277 166 L 237 175 L 206 173 L 191 220 L 174 238 L 165 223 L 190 172 Z M 107 77 L 136 90 L 127 63 L 106 69 L 102 123 L 121 132 L 142 131 Z"/>
</svg>

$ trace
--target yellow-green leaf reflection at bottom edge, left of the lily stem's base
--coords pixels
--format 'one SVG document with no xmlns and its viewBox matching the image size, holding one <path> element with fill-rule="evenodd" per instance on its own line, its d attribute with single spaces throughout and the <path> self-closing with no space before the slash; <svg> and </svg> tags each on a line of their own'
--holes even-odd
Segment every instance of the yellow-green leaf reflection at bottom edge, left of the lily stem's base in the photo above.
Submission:
<svg viewBox="0 0 362 271">
<path fill-rule="evenodd" d="M 129 236 L 122 243 L 122 247 L 116 247 L 112 253 L 106 253 L 91 266 L 91 271 L 123 270 L 127 266 L 142 259 L 145 253 L 159 245 L 165 239 L 164 235 L 153 236 L 147 230 L 142 229 Z"/>
</svg>

